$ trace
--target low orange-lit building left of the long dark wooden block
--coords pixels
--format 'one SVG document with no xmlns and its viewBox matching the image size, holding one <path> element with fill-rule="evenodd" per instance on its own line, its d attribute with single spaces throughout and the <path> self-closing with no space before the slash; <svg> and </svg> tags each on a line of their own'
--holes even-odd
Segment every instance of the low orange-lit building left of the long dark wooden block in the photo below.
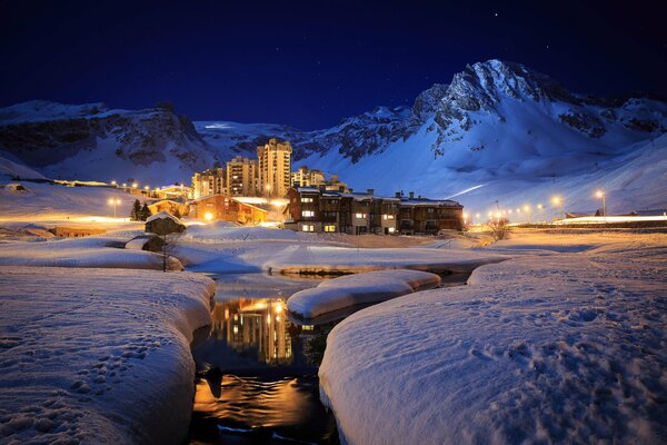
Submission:
<svg viewBox="0 0 667 445">
<path fill-rule="evenodd" d="M 269 209 L 260 204 L 246 202 L 239 198 L 212 195 L 190 202 L 190 216 L 207 221 L 222 220 L 258 225 L 269 219 Z"/>
</svg>

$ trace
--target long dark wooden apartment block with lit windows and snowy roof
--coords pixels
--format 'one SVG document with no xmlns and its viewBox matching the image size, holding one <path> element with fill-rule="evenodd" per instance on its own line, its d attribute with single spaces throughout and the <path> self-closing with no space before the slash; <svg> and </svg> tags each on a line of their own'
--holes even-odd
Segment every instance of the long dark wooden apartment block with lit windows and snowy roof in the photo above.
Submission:
<svg viewBox="0 0 667 445">
<path fill-rule="evenodd" d="M 442 229 L 462 229 L 464 207 L 452 200 L 432 200 L 396 194 L 379 197 L 366 194 L 328 191 L 325 187 L 298 187 L 288 191 L 286 227 L 300 231 L 350 235 L 435 235 Z"/>
</svg>

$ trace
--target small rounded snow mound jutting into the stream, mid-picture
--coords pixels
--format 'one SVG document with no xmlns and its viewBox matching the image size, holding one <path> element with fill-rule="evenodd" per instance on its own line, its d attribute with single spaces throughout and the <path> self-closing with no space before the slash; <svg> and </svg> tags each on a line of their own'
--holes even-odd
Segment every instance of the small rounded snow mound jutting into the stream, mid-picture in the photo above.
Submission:
<svg viewBox="0 0 667 445">
<path fill-rule="evenodd" d="M 386 301 L 440 284 L 436 274 L 419 270 L 378 270 L 328 279 L 317 287 L 296 293 L 287 300 L 290 313 L 301 318 L 354 305 Z"/>
</svg>

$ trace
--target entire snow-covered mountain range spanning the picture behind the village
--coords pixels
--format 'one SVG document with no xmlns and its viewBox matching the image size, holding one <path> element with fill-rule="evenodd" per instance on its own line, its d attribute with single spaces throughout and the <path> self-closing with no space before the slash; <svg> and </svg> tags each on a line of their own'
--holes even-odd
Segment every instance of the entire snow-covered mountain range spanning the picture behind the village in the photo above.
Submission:
<svg viewBox="0 0 667 445">
<path fill-rule="evenodd" d="M 484 214 L 547 205 L 551 195 L 567 210 L 589 211 L 599 207 L 596 188 L 607 191 L 611 211 L 667 207 L 666 131 L 665 101 L 577 95 L 498 60 L 466 67 L 411 108 L 377 107 L 316 131 L 229 121 L 192 127 L 168 109 L 38 101 L 0 110 L 0 149 L 47 176 L 99 180 L 132 171 L 187 180 L 193 169 L 255 156 L 278 137 L 295 147 L 296 166 L 336 172 L 356 189 L 456 197 Z M 556 211 L 546 207 L 531 218 Z"/>
</svg>

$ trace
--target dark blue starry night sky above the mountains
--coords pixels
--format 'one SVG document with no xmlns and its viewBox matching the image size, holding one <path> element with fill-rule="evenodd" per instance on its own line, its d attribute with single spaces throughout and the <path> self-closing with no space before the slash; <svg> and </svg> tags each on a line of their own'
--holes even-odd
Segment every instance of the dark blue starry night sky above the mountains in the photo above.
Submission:
<svg viewBox="0 0 667 445">
<path fill-rule="evenodd" d="M 313 129 L 491 58 L 579 92 L 667 93 L 661 2 L 447 3 L 0 0 L 0 106 L 171 100 L 195 120 Z"/>
</svg>

